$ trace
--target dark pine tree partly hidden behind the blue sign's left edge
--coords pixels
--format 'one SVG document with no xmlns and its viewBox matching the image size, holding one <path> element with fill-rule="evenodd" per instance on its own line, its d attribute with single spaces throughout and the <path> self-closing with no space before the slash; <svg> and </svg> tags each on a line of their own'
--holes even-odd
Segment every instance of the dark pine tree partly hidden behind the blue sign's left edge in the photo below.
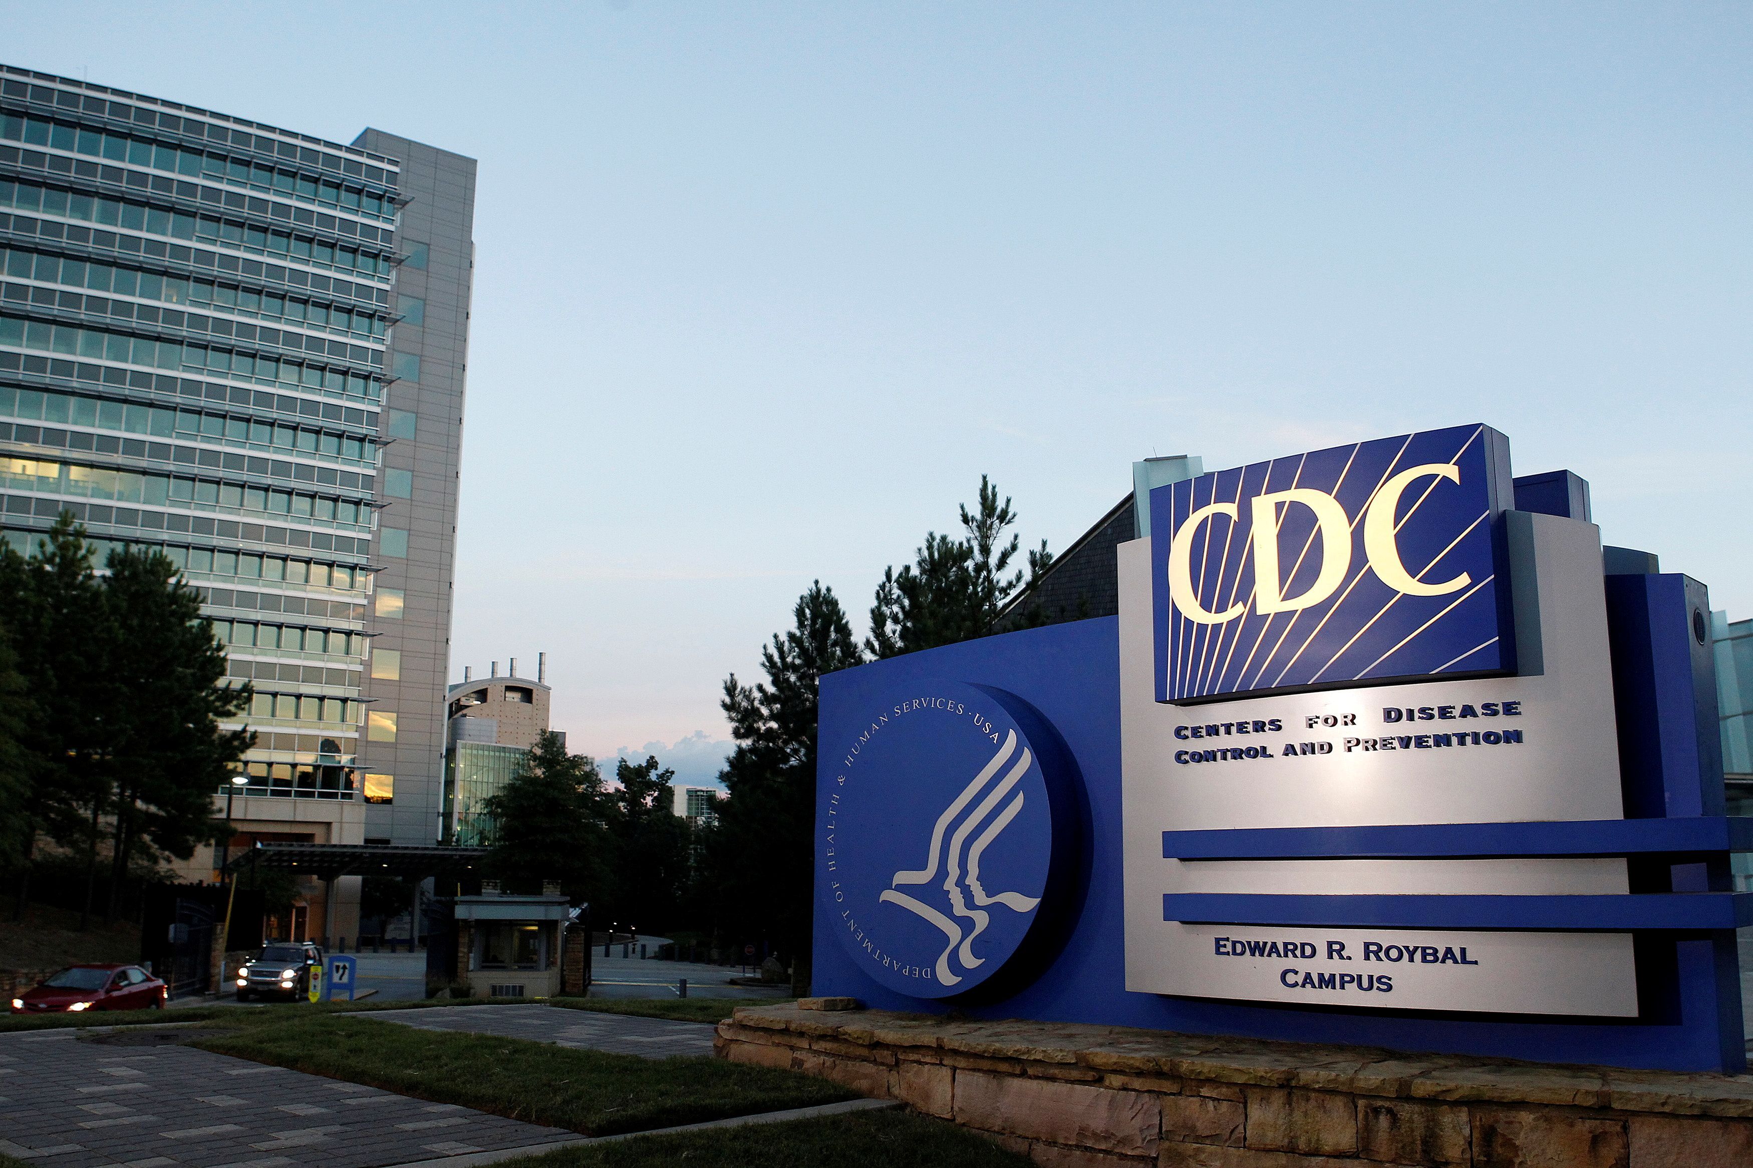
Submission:
<svg viewBox="0 0 1753 1168">
<path fill-rule="evenodd" d="M 864 660 L 833 588 L 810 585 L 792 608 L 794 627 L 761 650 L 766 681 L 724 683 L 722 709 L 736 749 L 720 772 L 708 863 L 719 883 L 720 921 L 745 939 L 764 937 L 792 960 L 792 988 L 808 993 L 815 830 L 815 721 L 822 674 Z"/>
</svg>

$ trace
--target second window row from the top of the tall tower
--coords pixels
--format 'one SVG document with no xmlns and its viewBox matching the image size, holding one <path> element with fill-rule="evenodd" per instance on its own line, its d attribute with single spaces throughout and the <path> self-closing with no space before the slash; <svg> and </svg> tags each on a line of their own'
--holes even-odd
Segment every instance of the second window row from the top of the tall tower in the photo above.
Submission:
<svg viewBox="0 0 1753 1168">
<path fill-rule="evenodd" d="M 295 235 L 284 228 L 247 224 L 219 219 L 217 215 L 196 215 L 133 200 L 81 194 L 79 191 L 40 186 L 37 182 L 0 180 L 0 207 L 39 210 L 44 215 L 96 222 L 105 228 L 121 228 L 145 235 L 163 235 L 172 240 L 230 243 L 265 256 L 309 261 L 379 278 L 387 278 L 394 268 L 391 252 L 387 250 L 380 252 L 372 247 L 354 247 L 338 240 Z"/>
</svg>

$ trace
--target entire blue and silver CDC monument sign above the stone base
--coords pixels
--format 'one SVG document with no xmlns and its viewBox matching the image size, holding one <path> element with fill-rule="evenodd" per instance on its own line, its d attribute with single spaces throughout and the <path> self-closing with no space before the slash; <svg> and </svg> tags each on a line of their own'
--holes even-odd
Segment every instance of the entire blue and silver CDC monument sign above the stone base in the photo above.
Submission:
<svg viewBox="0 0 1753 1168">
<path fill-rule="evenodd" d="M 1485 426 L 1136 508 L 1117 615 L 822 679 L 817 993 L 1744 1068 L 1702 585 Z"/>
</svg>

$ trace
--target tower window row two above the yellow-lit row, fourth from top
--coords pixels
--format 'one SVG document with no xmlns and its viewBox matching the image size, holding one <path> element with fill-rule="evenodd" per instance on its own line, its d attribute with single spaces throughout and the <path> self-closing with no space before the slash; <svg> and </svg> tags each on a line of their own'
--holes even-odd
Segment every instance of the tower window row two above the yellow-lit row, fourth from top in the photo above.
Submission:
<svg viewBox="0 0 1753 1168">
<path fill-rule="evenodd" d="M 207 376 L 231 375 L 256 382 L 333 389 L 361 398 L 377 398 L 380 383 L 363 373 L 331 369 L 307 361 L 287 361 L 242 350 L 179 341 L 156 341 L 110 329 L 49 324 L 0 315 L 0 345 L 35 348 L 91 361 L 145 366 L 149 369 L 188 369 Z"/>
</svg>

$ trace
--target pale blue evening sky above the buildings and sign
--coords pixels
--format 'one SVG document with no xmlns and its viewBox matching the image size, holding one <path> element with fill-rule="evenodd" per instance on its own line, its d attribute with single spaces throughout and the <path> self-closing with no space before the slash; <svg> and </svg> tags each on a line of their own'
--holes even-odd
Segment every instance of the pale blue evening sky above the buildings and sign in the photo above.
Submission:
<svg viewBox="0 0 1753 1168">
<path fill-rule="evenodd" d="M 710 777 L 987 473 L 1487 422 L 1753 616 L 1753 9 L 16 4 L 0 60 L 480 159 L 452 679 Z M 526 669 L 528 671 L 528 669 Z"/>
</svg>

